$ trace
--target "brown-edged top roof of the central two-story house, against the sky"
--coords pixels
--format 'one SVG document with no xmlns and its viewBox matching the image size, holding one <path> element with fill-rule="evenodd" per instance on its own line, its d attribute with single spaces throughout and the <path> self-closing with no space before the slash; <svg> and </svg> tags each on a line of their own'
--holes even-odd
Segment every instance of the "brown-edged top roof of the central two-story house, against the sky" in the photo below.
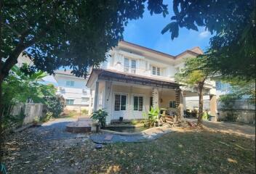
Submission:
<svg viewBox="0 0 256 174">
<path fill-rule="evenodd" d="M 154 49 L 149 49 L 145 46 L 140 46 L 140 45 L 137 45 L 135 43 L 130 43 L 128 41 L 120 41 L 119 43 L 127 45 L 127 46 L 132 46 L 132 47 L 135 47 L 137 49 L 142 49 L 144 51 L 153 52 L 154 54 L 159 54 L 159 55 L 164 56 L 164 57 L 169 57 L 170 59 L 177 59 L 177 58 L 181 57 L 182 55 L 184 55 L 186 53 L 187 54 L 193 54 L 193 55 L 196 55 L 196 56 L 199 55 L 199 54 L 204 54 L 204 51 L 202 51 L 199 46 L 195 46 L 192 49 L 187 49 L 187 50 L 181 52 L 180 54 L 177 54 L 176 56 L 172 56 L 171 54 L 166 54 L 166 53 L 163 53 L 161 51 L 156 51 Z"/>
</svg>

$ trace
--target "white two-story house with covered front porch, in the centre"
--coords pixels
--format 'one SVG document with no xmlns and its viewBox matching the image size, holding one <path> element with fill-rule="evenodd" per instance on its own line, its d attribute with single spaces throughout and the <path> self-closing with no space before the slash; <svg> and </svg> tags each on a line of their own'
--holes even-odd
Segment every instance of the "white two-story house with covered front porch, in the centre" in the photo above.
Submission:
<svg viewBox="0 0 256 174">
<path fill-rule="evenodd" d="M 203 54 L 199 47 L 177 56 L 164 54 L 127 41 L 108 52 L 107 61 L 92 69 L 87 87 L 92 94 L 92 110 L 104 108 L 111 120 L 143 119 L 151 107 L 166 108 L 169 115 L 183 116 L 185 97 L 198 96 L 196 87 L 185 88 L 175 82 L 175 73 L 185 66 L 185 59 Z M 212 115 L 216 115 L 215 82 L 207 81 L 204 94 L 209 95 Z"/>
</svg>

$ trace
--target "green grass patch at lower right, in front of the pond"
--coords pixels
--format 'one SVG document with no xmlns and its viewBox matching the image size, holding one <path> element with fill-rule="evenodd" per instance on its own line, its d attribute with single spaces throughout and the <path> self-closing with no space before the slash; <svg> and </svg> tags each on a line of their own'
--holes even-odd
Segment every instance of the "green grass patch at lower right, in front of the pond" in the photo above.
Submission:
<svg viewBox="0 0 256 174">
<path fill-rule="evenodd" d="M 255 141 L 223 133 L 177 132 L 90 152 L 92 173 L 255 173 Z M 113 172 L 113 171 L 112 171 Z"/>
</svg>

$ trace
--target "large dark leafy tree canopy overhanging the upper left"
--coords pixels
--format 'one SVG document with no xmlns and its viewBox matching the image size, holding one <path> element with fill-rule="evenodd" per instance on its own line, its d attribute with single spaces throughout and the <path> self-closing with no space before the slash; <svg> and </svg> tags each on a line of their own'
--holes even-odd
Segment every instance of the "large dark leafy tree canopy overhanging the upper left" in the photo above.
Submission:
<svg viewBox="0 0 256 174">
<path fill-rule="evenodd" d="M 124 25 L 143 17 L 146 0 L 0 0 L 1 84 L 23 53 L 33 70 L 50 74 L 70 67 L 77 76 L 105 60 L 105 52 L 122 38 Z M 148 0 L 151 14 L 167 14 L 162 0 Z M 1 131 L 0 96 L 0 138 Z M 2 139 L 0 139 L 2 143 Z M 0 144 L 0 162 L 1 162 Z"/>
</svg>

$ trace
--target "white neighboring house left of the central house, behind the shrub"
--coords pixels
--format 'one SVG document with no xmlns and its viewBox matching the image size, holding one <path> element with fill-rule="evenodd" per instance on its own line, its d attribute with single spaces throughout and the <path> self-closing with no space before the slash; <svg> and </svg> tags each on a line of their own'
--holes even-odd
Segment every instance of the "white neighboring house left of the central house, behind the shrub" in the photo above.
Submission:
<svg viewBox="0 0 256 174">
<path fill-rule="evenodd" d="M 65 99 L 65 109 L 89 109 L 90 90 L 85 86 L 87 80 L 72 75 L 71 70 L 57 70 L 54 78 L 58 85 L 57 94 L 61 94 Z"/>
</svg>

